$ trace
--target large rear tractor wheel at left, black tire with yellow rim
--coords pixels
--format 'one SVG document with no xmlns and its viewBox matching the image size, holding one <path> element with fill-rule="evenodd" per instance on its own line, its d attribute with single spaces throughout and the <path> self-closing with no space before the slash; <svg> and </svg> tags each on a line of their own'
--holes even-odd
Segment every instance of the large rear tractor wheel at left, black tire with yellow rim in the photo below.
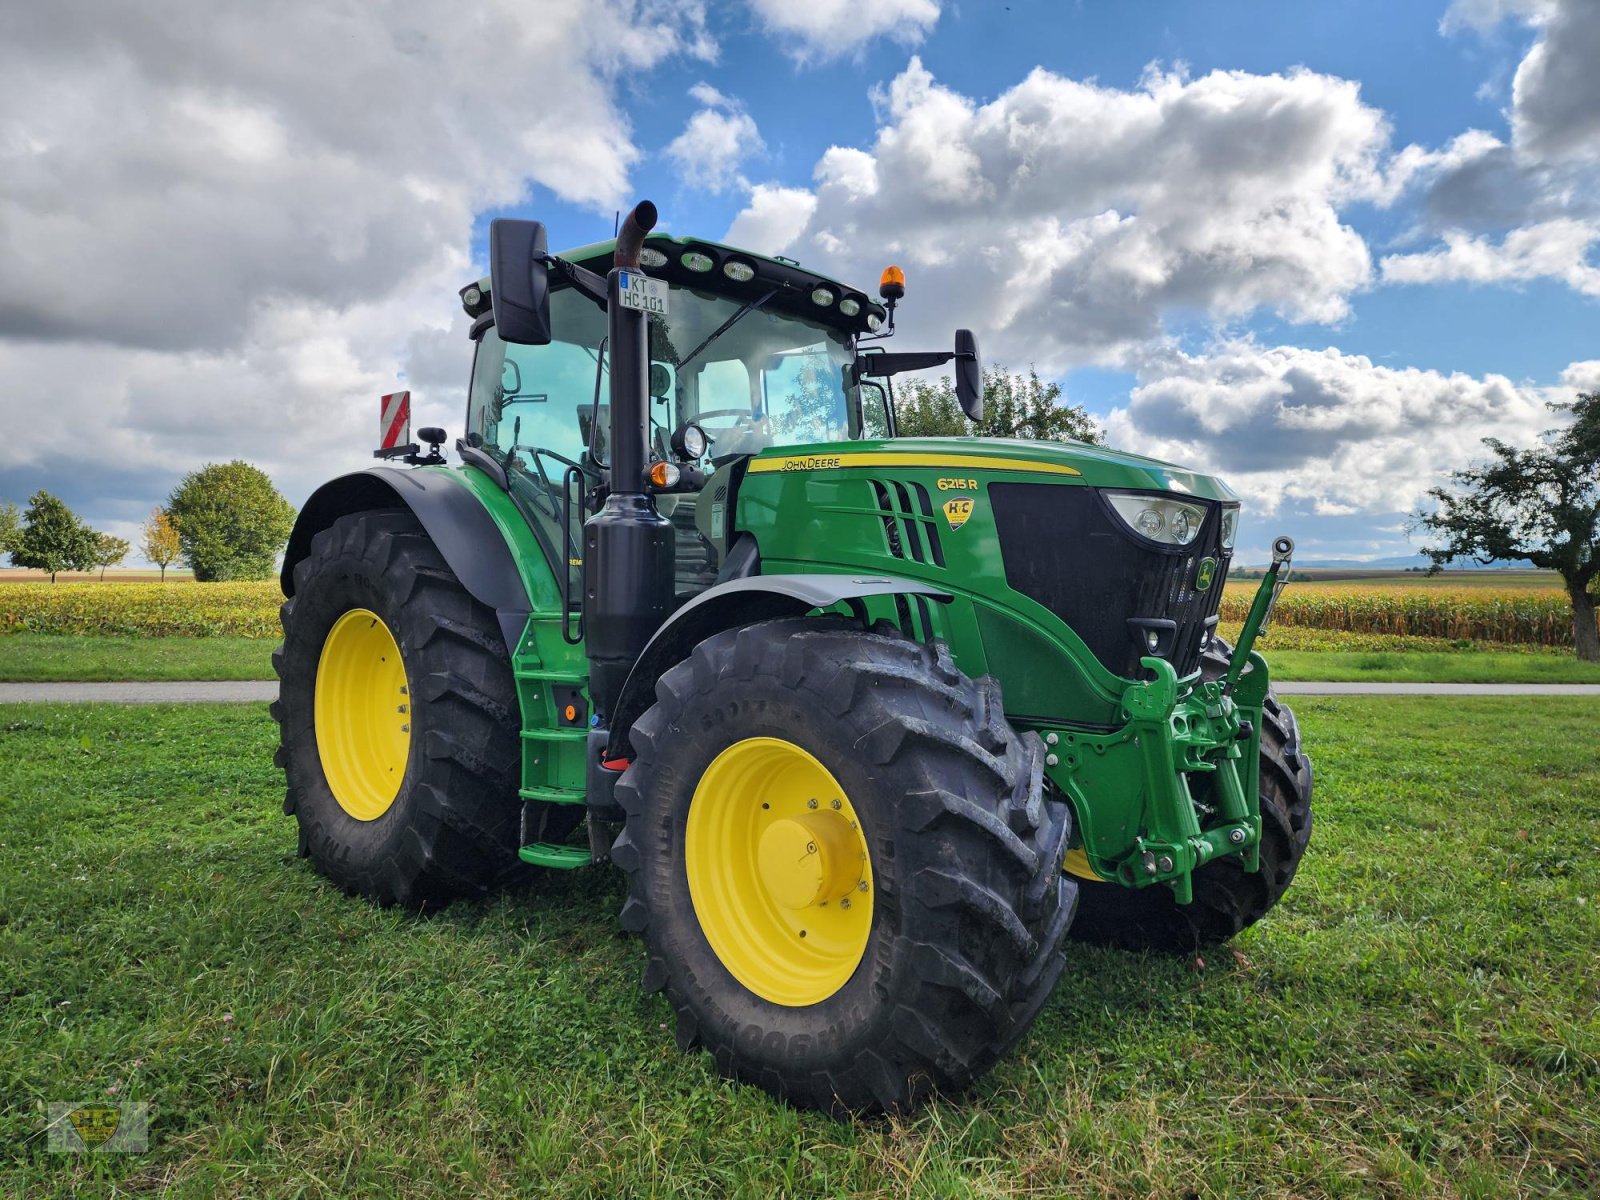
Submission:
<svg viewBox="0 0 1600 1200">
<path fill-rule="evenodd" d="M 282 619 L 272 715 L 301 854 L 410 907 L 517 870 L 510 659 L 416 518 L 360 512 L 318 533 Z"/>
</svg>

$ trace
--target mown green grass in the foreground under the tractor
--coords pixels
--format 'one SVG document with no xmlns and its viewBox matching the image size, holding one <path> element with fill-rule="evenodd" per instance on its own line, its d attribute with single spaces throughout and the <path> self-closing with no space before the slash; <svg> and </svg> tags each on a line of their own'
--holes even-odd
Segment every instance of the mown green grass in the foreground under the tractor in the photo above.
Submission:
<svg viewBox="0 0 1600 1200">
<path fill-rule="evenodd" d="M 1074 949 L 971 1096 L 840 1123 L 675 1050 L 610 872 L 382 912 L 294 856 L 264 706 L 3 706 L 0 1195 L 1594 1195 L 1600 699 L 1298 707 L 1277 912 Z M 45 1152 L 107 1096 L 149 1154 Z"/>
</svg>

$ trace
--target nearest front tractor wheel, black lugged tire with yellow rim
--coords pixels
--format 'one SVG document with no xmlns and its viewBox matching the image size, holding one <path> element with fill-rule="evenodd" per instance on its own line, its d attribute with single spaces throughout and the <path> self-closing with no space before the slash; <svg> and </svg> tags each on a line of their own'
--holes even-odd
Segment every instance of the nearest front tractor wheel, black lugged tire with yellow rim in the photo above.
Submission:
<svg viewBox="0 0 1600 1200">
<path fill-rule="evenodd" d="M 904 1110 L 1022 1035 L 1061 973 L 1070 811 L 994 680 L 821 619 L 702 642 L 618 784 L 622 925 L 678 1043 L 794 1104 Z"/>
</svg>

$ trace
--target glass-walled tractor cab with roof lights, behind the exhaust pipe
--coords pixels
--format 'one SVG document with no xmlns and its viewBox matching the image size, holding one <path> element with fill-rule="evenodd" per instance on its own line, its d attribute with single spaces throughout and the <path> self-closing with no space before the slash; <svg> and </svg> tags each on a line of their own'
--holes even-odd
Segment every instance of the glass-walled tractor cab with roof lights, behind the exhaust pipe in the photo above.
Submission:
<svg viewBox="0 0 1600 1200">
<path fill-rule="evenodd" d="M 560 261 L 603 270 L 613 253 L 606 242 Z M 771 446 L 890 435 L 885 390 L 853 370 L 858 336 L 885 309 L 794 264 L 701 240 L 650 238 L 640 262 L 666 283 L 648 315 L 646 446 L 651 464 L 675 469 L 656 507 L 674 526 L 675 590 L 686 598 L 717 581 L 726 555 L 723 509 L 701 504 L 704 493 L 726 494 L 726 478 Z M 494 326 L 490 280 L 470 291 L 466 445 L 506 472 L 552 549 L 576 544 L 610 482 L 606 310 L 552 270 L 550 339 L 518 344 Z"/>
</svg>

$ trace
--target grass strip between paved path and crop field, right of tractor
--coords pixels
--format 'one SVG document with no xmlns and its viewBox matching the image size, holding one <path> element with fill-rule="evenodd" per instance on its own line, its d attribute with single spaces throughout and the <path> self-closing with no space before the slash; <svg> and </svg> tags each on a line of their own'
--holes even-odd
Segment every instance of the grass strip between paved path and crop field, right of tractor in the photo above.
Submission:
<svg viewBox="0 0 1600 1200">
<path fill-rule="evenodd" d="M 1362 683 L 1600 683 L 1600 662 L 1573 654 L 1322 651 L 1261 646 L 1282 680 Z"/>
</svg>

